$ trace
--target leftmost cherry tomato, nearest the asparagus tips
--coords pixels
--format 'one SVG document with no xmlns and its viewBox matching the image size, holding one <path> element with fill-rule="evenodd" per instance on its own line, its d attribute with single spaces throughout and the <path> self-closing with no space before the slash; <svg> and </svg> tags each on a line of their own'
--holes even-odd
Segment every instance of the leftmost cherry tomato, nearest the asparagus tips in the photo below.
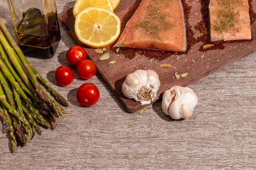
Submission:
<svg viewBox="0 0 256 170">
<path fill-rule="evenodd" d="M 69 67 L 60 66 L 56 69 L 55 80 L 61 86 L 69 85 L 74 80 L 74 73 Z"/>
</svg>

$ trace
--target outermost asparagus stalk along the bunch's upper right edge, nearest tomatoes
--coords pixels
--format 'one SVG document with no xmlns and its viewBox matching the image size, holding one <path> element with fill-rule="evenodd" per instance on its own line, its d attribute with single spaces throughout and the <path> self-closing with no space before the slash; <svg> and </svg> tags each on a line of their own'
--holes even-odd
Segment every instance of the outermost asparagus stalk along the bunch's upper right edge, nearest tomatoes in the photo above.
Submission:
<svg viewBox="0 0 256 170">
<path fill-rule="evenodd" d="M 68 106 L 67 101 L 58 93 L 56 92 L 56 90 L 54 90 L 51 85 L 49 85 L 49 83 L 47 83 L 47 81 L 42 77 L 42 75 L 40 73 L 38 73 L 38 71 L 36 71 L 35 67 L 33 67 L 29 61 L 26 59 L 26 57 L 24 56 L 24 53 L 22 53 L 22 51 L 19 48 L 19 45 L 17 45 L 17 43 L 15 42 L 15 40 L 12 38 L 12 35 L 10 34 L 10 32 L 8 31 L 8 29 L 6 28 L 6 26 L 4 25 L 3 20 L 1 20 L 0 18 L 0 29 L 1 31 L 3 31 L 4 36 L 6 36 L 6 38 L 8 39 L 8 41 L 10 42 L 10 45 L 12 46 L 12 48 L 15 50 L 15 52 L 19 55 L 19 59 L 22 61 L 22 64 L 24 64 L 25 67 L 31 67 L 33 73 L 36 75 L 36 78 L 38 78 L 40 80 L 40 82 L 46 87 L 46 89 L 51 92 L 51 94 L 56 97 L 56 100 L 58 102 L 60 102 L 61 104 L 63 104 L 63 106 Z"/>
</svg>

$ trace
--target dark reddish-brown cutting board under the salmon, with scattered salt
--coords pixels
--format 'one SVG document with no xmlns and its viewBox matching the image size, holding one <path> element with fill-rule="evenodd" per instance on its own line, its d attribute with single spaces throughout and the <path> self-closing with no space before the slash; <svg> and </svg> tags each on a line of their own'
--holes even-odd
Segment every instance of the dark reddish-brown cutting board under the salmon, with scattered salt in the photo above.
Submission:
<svg viewBox="0 0 256 170">
<path fill-rule="evenodd" d="M 156 50 L 142 50 L 132 48 L 120 48 L 117 53 L 113 45 L 107 47 L 107 52 L 111 57 L 108 60 L 99 60 L 101 53 L 95 52 L 92 48 L 83 45 L 76 37 L 74 32 L 74 20 L 72 9 L 63 11 L 59 15 L 61 23 L 65 26 L 68 33 L 78 45 L 83 45 L 88 52 L 89 58 L 95 62 L 98 73 L 120 101 L 124 104 L 129 112 L 135 112 L 144 108 L 139 102 L 127 99 L 122 94 L 122 83 L 127 74 L 137 69 L 153 69 L 159 74 L 161 87 L 158 96 L 161 97 L 163 92 L 174 85 L 187 86 L 196 80 L 228 66 L 236 60 L 246 57 L 256 51 L 256 22 L 255 13 L 256 1 L 250 1 L 250 15 L 252 20 L 252 41 L 230 41 L 216 42 L 211 48 L 203 50 L 202 46 L 211 43 L 207 36 L 207 0 L 204 1 L 182 1 L 186 15 L 186 27 L 188 37 L 188 50 L 186 53 L 163 52 Z M 126 22 L 132 16 L 140 0 L 120 0 L 115 13 L 120 17 L 122 22 L 121 31 L 124 29 Z M 206 25 L 206 26 L 205 26 Z M 212 44 L 212 43 L 211 43 Z M 204 54 L 204 55 L 203 55 Z M 202 56 L 203 55 L 203 56 Z M 115 64 L 109 64 L 115 60 Z M 159 67 L 159 64 L 172 64 L 172 67 Z M 184 78 L 176 78 L 175 73 L 188 73 Z M 198 94 L 200 95 L 200 94 Z"/>
</svg>

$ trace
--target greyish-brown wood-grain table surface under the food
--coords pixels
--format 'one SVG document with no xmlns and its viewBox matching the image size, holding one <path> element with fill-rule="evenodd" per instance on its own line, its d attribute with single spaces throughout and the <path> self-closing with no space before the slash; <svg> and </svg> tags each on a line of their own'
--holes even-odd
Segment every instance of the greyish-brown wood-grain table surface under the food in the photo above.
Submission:
<svg viewBox="0 0 256 170">
<path fill-rule="evenodd" d="M 74 3 L 56 0 L 58 13 Z M 13 34 L 5 0 L 0 17 Z M 65 53 L 73 45 L 61 27 L 54 57 L 28 58 L 68 100 L 69 114 L 15 153 L 0 134 L 0 169 L 256 169 L 256 53 L 189 85 L 198 105 L 193 117 L 175 121 L 159 106 L 142 115 L 126 113 L 98 75 L 82 80 L 74 69 L 71 85 L 56 85 L 54 71 L 67 65 Z M 99 102 L 89 108 L 76 101 L 86 82 L 100 90 Z"/>
</svg>

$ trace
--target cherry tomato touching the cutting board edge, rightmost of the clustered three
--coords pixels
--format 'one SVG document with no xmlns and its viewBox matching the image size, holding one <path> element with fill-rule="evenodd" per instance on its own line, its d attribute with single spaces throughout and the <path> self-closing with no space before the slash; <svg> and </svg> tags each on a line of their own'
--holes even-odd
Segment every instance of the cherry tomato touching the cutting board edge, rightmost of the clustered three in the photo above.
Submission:
<svg viewBox="0 0 256 170">
<path fill-rule="evenodd" d="M 88 59 L 79 62 L 76 69 L 79 76 L 84 79 L 92 78 L 97 70 L 94 62 Z"/>
</svg>

